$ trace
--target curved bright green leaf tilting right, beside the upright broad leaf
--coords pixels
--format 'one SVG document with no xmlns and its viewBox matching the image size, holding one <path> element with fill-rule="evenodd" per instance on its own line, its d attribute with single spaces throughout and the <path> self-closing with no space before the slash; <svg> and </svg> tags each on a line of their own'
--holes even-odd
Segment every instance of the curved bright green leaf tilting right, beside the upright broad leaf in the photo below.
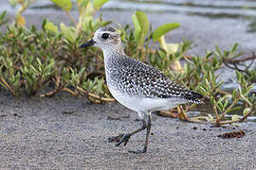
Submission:
<svg viewBox="0 0 256 170">
<path fill-rule="evenodd" d="M 180 25 L 178 23 L 169 23 L 169 24 L 165 24 L 165 25 L 157 27 L 155 29 L 155 31 L 153 32 L 154 42 L 158 41 L 158 39 L 160 39 L 161 36 L 165 35 L 170 30 L 173 30 L 179 26 Z"/>
</svg>

